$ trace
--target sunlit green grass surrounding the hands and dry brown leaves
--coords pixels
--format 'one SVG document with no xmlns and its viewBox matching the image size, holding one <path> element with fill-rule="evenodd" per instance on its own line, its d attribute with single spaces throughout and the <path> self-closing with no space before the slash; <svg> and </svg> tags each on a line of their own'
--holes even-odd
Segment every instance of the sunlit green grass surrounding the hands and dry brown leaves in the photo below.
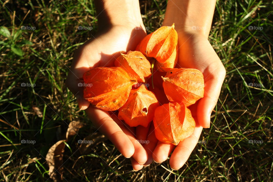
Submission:
<svg viewBox="0 0 273 182">
<path fill-rule="evenodd" d="M 94 3 L 0 0 L 1 181 L 51 181 L 46 154 L 71 121 L 86 123 L 66 142 L 63 181 L 272 181 L 273 7 L 269 1 L 217 1 L 209 41 L 226 67 L 222 92 L 187 163 L 134 172 L 109 140 L 82 155 L 77 141 L 96 132 L 64 81 L 75 49 L 97 30 Z M 166 1 L 140 1 L 148 33 L 162 25 Z M 21 26 L 35 30 L 21 30 Z M 78 30 L 78 26 L 93 29 Z M 262 30 L 249 30 L 249 26 Z M 21 83 L 35 84 L 23 87 Z M 249 83 L 262 84 L 250 87 Z M 35 110 L 38 107 L 39 112 Z M 21 140 L 35 144 L 21 144 Z M 249 140 L 262 140 L 252 144 Z M 111 164 L 110 164 L 111 163 Z"/>
</svg>

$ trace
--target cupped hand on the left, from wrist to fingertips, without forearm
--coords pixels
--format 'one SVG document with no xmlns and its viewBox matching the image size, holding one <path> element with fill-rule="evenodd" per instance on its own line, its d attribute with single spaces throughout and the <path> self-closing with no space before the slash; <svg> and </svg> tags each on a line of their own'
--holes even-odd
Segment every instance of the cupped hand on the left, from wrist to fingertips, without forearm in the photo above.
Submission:
<svg viewBox="0 0 273 182">
<path fill-rule="evenodd" d="M 76 50 L 65 84 L 76 96 L 80 109 L 86 111 L 95 127 L 111 140 L 123 156 L 131 158 L 133 168 L 139 170 L 148 160 L 148 154 L 137 138 L 146 139 L 148 129 L 145 136 L 139 132 L 138 127 L 124 125 L 114 113 L 92 107 L 83 98 L 82 76 L 94 67 L 114 66 L 115 58 L 121 52 L 134 50 L 146 36 L 146 31 L 143 24 L 126 24 L 113 25 L 98 32 L 100 32 L 98 35 Z"/>
</svg>

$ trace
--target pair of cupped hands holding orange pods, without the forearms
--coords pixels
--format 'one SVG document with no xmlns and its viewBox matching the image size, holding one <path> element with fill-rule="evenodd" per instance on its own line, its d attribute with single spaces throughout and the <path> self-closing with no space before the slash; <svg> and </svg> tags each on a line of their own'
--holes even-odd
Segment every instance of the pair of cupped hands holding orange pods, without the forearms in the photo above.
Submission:
<svg viewBox="0 0 273 182">
<path fill-rule="evenodd" d="M 163 162 L 173 150 L 170 166 L 173 169 L 179 169 L 185 164 L 197 144 L 202 127 L 209 127 L 210 113 L 218 99 L 225 69 L 208 40 L 196 36 L 187 39 L 179 38 L 177 67 L 200 70 L 206 84 L 205 94 L 204 98 L 190 107 L 197 122 L 193 135 L 180 142 L 176 148 L 172 144 L 157 143 L 152 125 L 150 129 L 141 126 L 131 128 L 124 125 L 115 114 L 109 115 L 108 112 L 88 107 L 89 103 L 82 98 L 82 88 L 75 89 L 75 84 L 83 82 L 83 73 L 93 67 L 113 66 L 115 57 L 121 51 L 134 50 L 138 42 L 146 36 L 144 30 L 131 30 L 131 32 L 123 30 L 122 27 L 111 28 L 82 45 L 75 53 L 67 79 L 69 81 L 66 84 L 75 94 L 79 106 L 82 109 L 87 108 L 86 113 L 93 118 L 94 125 L 113 142 L 121 154 L 125 157 L 132 156 L 131 162 L 134 169 L 141 169 L 143 166 L 140 164 L 150 164 L 153 159 L 156 162 Z M 149 143 L 143 147 L 136 139 L 147 140 Z"/>
</svg>

